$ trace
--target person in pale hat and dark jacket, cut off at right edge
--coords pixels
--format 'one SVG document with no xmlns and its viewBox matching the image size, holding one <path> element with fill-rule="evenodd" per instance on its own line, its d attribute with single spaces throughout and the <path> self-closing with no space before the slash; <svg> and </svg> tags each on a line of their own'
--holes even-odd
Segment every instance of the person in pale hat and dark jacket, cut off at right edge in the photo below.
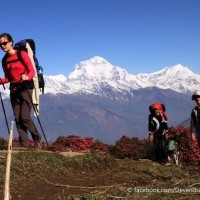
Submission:
<svg viewBox="0 0 200 200">
<path fill-rule="evenodd" d="M 196 102 L 196 106 L 191 111 L 190 132 L 192 134 L 192 140 L 197 140 L 198 146 L 200 147 L 200 91 L 196 91 L 192 95 L 192 100 Z"/>
</svg>

